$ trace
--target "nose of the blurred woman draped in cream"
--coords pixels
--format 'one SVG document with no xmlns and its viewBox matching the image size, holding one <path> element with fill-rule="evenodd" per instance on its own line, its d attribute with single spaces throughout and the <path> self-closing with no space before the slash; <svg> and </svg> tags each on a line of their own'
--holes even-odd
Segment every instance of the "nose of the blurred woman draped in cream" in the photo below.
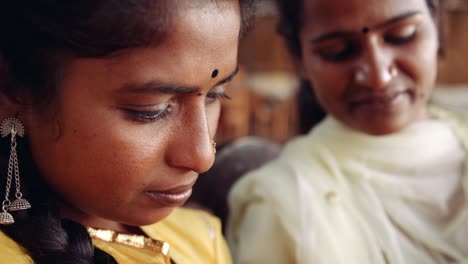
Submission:
<svg viewBox="0 0 468 264">
<path fill-rule="evenodd" d="M 391 50 L 376 41 L 370 41 L 356 63 L 354 81 L 361 86 L 382 89 L 397 73 L 398 69 Z"/>
</svg>

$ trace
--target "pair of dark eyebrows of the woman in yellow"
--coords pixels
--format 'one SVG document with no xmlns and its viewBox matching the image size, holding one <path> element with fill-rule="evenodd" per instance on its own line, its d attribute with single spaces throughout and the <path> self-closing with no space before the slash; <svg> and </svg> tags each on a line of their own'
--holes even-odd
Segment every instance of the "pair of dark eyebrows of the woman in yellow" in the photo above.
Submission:
<svg viewBox="0 0 468 264">
<path fill-rule="evenodd" d="M 236 66 L 234 71 L 229 74 L 228 77 L 216 83 L 215 86 L 222 85 L 230 82 L 239 72 L 239 65 Z M 163 94 L 190 94 L 195 93 L 199 90 L 196 87 L 178 86 L 164 84 L 158 81 L 149 81 L 143 84 L 138 83 L 127 83 L 118 89 L 119 92 L 123 93 L 163 93 Z"/>
</svg>

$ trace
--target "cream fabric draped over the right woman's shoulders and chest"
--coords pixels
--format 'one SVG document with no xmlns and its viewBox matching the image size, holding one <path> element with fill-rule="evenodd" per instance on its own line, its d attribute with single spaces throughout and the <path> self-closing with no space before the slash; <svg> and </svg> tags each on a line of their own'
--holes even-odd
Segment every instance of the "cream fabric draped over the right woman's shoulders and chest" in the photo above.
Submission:
<svg viewBox="0 0 468 264">
<path fill-rule="evenodd" d="M 446 264 L 468 258 L 468 123 L 370 136 L 327 117 L 229 197 L 235 263 Z"/>
</svg>

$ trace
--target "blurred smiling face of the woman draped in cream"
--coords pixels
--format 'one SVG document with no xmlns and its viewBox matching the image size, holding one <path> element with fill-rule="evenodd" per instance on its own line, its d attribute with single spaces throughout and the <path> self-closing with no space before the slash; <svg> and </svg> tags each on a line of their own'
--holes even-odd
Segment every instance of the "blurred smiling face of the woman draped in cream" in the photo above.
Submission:
<svg viewBox="0 0 468 264">
<path fill-rule="evenodd" d="M 304 0 L 304 76 L 322 107 L 385 135 L 428 117 L 438 35 L 424 0 Z"/>
</svg>

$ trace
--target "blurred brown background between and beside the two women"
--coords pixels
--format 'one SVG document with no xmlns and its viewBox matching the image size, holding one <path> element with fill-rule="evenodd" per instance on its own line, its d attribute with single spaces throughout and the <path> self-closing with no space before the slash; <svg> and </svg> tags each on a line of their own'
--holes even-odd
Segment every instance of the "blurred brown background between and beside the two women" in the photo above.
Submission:
<svg viewBox="0 0 468 264">
<path fill-rule="evenodd" d="M 228 192 L 245 173 L 274 159 L 287 140 L 324 117 L 311 89 L 301 89 L 292 58 L 276 33 L 273 0 L 257 0 L 253 28 L 240 43 L 240 71 L 222 101 L 213 167 L 200 175 L 189 207 L 228 216 Z M 443 0 L 444 56 L 432 101 L 468 114 L 468 0 Z"/>
</svg>

